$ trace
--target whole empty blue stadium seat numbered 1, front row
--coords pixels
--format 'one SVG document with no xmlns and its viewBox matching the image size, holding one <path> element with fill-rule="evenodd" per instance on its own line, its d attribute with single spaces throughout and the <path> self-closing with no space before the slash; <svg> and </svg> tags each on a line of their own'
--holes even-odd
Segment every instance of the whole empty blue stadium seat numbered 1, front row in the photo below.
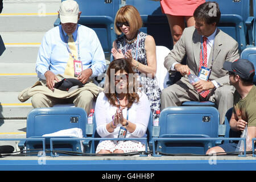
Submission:
<svg viewBox="0 0 256 182">
<path fill-rule="evenodd" d="M 42 137 L 44 134 L 55 133 L 60 130 L 78 128 L 82 130 L 82 137 L 86 135 L 87 114 L 80 107 L 48 107 L 33 109 L 27 116 L 26 138 L 45 138 L 46 149 L 49 150 L 51 138 L 75 138 L 75 137 Z M 89 151 L 89 142 L 83 142 L 85 152 Z M 42 142 L 23 141 L 19 143 L 20 148 L 40 149 Z M 82 152 L 81 143 L 77 141 L 56 141 L 53 142 L 54 150 Z"/>
</svg>

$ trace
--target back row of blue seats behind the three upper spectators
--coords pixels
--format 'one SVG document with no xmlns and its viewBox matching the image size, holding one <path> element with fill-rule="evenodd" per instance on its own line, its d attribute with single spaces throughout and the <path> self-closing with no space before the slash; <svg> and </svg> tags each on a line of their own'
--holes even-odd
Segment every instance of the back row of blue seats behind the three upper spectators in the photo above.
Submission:
<svg viewBox="0 0 256 182">
<path fill-rule="evenodd" d="M 255 13 L 253 14 L 253 7 L 255 12 L 255 1 L 253 0 L 253 3 L 250 3 L 250 0 L 216 1 L 220 5 L 221 10 L 218 28 L 237 40 L 240 52 L 246 47 L 254 46 L 256 31 L 254 22 L 256 18 Z M 143 20 L 141 31 L 152 35 L 156 45 L 165 46 L 169 49 L 173 47 L 168 20 L 166 15 L 162 14 L 159 1 L 77 0 L 77 3 L 79 3 L 80 11 L 82 11 L 79 23 L 96 31 L 105 53 L 110 53 L 112 42 L 117 39 L 117 35 L 114 32 L 114 18 L 119 7 L 123 5 L 133 5 L 138 9 Z M 54 26 L 59 24 L 60 19 L 58 18 Z"/>
</svg>

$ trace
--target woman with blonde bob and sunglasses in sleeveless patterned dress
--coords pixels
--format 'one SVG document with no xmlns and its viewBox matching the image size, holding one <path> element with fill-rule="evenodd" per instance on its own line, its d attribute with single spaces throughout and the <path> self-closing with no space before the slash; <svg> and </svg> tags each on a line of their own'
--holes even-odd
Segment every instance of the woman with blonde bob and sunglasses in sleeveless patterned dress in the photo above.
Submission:
<svg viewBox="0 0 256 182">
<path fill-rule="evenodd" d="M 150 101 L 152 113 L 160 109 L 160 88 L 154 78 L 156 73 L 156 47 L 152 36 L 140 32 L 142 19 L 138 10 L 131 5 L 121 7 L 115 16 L 115 32 L 119 36 L 113 42 L 114 59 L 126 58 L 139 74 L 141 90 Z"/>
</svg>

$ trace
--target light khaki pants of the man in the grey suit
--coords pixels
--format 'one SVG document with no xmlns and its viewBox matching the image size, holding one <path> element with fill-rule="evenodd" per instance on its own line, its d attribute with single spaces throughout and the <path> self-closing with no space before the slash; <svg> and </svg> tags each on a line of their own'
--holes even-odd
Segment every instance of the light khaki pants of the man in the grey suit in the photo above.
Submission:
<svg viewBox="0 0 256 182">
<path fill-rule="evenodd" d="M 221 86 L 212 90 L 206 98 L 203 98 L 193 89 L 191 84 L 177 81 L 176 84 L 162 90 L 161 110 L 166 107 L 181 106 L 185 101 L 212 101 L 217 105 L 220 113 L 220 124 L 223 124 L 226 111 L 233 107 L 234 90 L 231 85 Z"/>
</svg>

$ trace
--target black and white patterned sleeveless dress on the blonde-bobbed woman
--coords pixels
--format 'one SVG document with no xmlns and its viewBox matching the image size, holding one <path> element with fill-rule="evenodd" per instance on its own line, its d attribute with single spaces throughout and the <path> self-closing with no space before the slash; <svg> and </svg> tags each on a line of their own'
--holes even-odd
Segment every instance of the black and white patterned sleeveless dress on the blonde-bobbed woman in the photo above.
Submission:
<svg viewBox="0 0 256 182">
<path fill-rule="evenodd" d="M 129 44 L 126 42 L 126 36 L 122 35 L 120 36 L 116 41 L 117 48 L 121 49 L 123 52 L 123 55 L 125 55 L 125 52 L 129 49 L 131 49 L 131 53 L 133 55 L 133 59 L 138 60 L 139 63 L 142 63 L 144 65 L 147 65 L 147 56 L 146 56 L 146 49 L 145 49 L 145 39 L 147 34 L 144 32 L 139 32 L 138 37 L 138 51 L 137 50 L 137 39 L 135 42 Z M 136 59 L 136 55 L 137 58 Z M 148 100 L 150 101 L 150 108 L 153 113 L 153 117 L 156 115 L 156 110 L 160 110 L 160 93 L 161 90 L 158 85 L 158 81 L 156 78 L 151 77 L 145 77 L 144 74 L 141 74 L 137 69 L 134 69 L 134 72 L 138 73 L 140 75 L 139 81 L 141 82 L 141 88 L 142 92 L 144 92 L 147 95 Z"/>
</svg>

